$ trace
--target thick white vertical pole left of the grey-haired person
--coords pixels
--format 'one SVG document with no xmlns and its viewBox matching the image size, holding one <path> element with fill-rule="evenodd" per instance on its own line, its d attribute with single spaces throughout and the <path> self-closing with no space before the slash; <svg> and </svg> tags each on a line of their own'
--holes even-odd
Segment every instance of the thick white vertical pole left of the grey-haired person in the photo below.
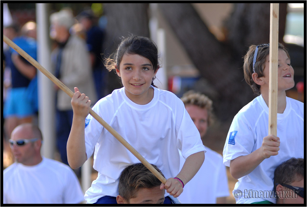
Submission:
<svg viewBox="0 0 307 207">
<path fill-rule="evenodd" d="M 50 72 L 49 44 L 49 12 L 48 4 L 36 4 L 37 23 L 37 61 Z M 38 125 L 43 134 L 42 155 L 54 158 L 55 151 L 55 93 L 53 83 L 43 73 L 37 73 L 38 78 Z"/>
</svg>

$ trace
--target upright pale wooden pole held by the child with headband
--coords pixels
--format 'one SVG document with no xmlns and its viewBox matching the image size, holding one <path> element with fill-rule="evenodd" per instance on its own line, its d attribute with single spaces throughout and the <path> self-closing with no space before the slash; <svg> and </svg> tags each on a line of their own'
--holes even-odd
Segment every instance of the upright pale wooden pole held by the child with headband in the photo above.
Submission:
<svg viewBox="0 0 307 207">
<path fill-rule="evenodd" d="M 270 4 L 269 135 L 277 136 L 279 4 Z"/>
</svg>

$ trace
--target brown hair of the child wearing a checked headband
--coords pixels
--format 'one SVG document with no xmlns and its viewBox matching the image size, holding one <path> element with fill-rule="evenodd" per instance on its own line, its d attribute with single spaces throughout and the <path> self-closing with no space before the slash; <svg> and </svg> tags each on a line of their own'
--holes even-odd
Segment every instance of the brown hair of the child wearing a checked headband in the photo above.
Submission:
<svg viewBox="0 0 307 207">
<path fill-rule="evenodd" d="M 260 44 L 260 45 L 266 45 L 266 44 Z M 251 86 L 255 94 L 260 95 L 260 85 L 256 84 L 252 78 L 252 74 L 254 73 L 253 60 L 254 60 L 256 47 L 257 45 L 251 45 L 248 48 L 247 53 L 244 56 L 243 69 L 244 69 L 245 81 L 247 82 L 247 84 Z M 283 44 L 278 43 L 278 49 L 284 50 L 287 56 L 290 58 L 288 50 L 285 48 Z M 270 55 L 270 46 L 258 47 L 257 58 L 256 58 L 255 66 L 254 66 L 255 72 L 258 74 L 258 77 L 263 76 L 264 64 L 266 61 L 266 57 L 268 55 Z"/>
</svg>

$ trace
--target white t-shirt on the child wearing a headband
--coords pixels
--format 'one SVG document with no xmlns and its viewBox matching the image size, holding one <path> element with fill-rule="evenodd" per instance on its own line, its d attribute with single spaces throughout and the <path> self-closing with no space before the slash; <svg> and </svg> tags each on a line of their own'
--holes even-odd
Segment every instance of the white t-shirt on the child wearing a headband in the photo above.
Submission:
<svg viewBox="0 0 307 207">
<path fill-rule="evenodd" d="M 223 150 L 226 166 L 231 160 L 261 147 L 268 135 L 268 114 L 269 108 L 260 95 L 235 115 Z M 280 139 L 278 155 L 266 158 L 250 174 L 238 179 L 233 190 L 236 203 L 263 200 L 276 203 L 272 194 L 274 170 L 292 157 L 304 158 L 304 103 L 286 97 L 285 111 L 277 114 L 277 137 Z"/>
</svg>

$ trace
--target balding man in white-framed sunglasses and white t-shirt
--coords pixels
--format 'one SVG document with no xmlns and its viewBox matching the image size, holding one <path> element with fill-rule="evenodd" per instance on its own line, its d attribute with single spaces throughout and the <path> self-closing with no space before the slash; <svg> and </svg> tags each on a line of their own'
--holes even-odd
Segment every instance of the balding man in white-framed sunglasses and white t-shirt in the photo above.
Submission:
<svg viewBox="0 0 307 207">
<path fill-rule="evenodd" d="M 37 126 L 17 126 L 9 140 L 15 161 L 3 171 L 3 203 L 81 203 L 84 194 L 72 169 L 41 156 Z"/>
</svg>

